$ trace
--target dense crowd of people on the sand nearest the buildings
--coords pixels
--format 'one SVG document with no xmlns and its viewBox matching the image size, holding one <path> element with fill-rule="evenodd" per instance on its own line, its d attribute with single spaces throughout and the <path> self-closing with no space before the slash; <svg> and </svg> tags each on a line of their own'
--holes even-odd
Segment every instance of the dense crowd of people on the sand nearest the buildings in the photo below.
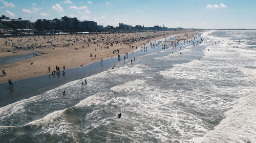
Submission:
<svg viewBox="0 0 256 143">
<path fill-rule="evenodd" d="M 130 36 L 129 33 L 102 33 L 102 34 L 90 34 L 90 35 L 48 35 L 48 36 L 31 36 L 29 38 L 24 37 L 16 37 L 15 39 L 7 39 L 4 42 L 5 46 L 9 47 L 10 45 L 13 47 L 11 50 L 35 50 L 41 48 L 49 48 L 49 47 L 69 47 L 70 45 L 74 45 L 77 43 L 86 43 L 88 47 L 90 44 L 95 44 L 99 46 L 99 43 L 105 45 L 105 49 L 109 49 L 110 46 L 114 44 L 134 44 L 136 41 L 150 41 L 150 39 L 156 37 L 164 37 L 169 35 L 168 32 L 148 32 L 146 35 L 141 36 L 141 34 L 135 34 L 134 36 Z M 84 46 L 83 46 L 84 48 Z M 102 48 L 102 46 L 101 46 Z M 7 48 L 8 49 L 8 48 Z M 75 48 L 78 49 L 77 47 Z M 5 48 L 2 50 L 6 50 Z"/>
</svg>

